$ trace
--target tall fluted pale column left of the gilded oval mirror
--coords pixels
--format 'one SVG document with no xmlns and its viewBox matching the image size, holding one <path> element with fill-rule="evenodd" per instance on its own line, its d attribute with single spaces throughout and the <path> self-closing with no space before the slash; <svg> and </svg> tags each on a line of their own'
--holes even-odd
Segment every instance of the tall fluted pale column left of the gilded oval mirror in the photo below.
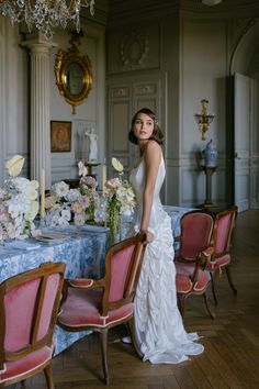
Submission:
<svg viewBox="0 0 259 389">
<path fill-rule="evenodd" d="M 45 170 L 45 186 L 50 188 L 50 118 L 49 118 L 49 57 L 54 43 L 37 38 L 22 44 L 31 57 L 31 179 L 41 182 Z"/>
</svg>

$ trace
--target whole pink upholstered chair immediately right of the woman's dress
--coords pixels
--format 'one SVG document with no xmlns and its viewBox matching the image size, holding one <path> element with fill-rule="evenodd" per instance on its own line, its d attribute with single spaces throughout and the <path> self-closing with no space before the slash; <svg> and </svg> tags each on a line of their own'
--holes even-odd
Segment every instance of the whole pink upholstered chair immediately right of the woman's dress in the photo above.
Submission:
<svg viewBox="0 0 259 389">
<path fill-rule="evenodd" d="M 207 286 L 211 277 L 204 270 L 206 259 L 202 252 L 210 246 L 213 216 L 203 211 L 191 211 L 181 218 L 180 248 L 176 253 L 176 286 L 181 315 L 184 315 L 185 299 L 191 294 L 203 294 L 211 318 Z"/>
</svg>

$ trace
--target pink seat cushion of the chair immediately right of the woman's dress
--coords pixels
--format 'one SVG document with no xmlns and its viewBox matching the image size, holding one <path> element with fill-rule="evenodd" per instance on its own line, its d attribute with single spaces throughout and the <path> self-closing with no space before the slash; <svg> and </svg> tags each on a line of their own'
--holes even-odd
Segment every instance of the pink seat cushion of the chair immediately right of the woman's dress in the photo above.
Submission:
<svg viewBox="0 0 259 389">
<path fill-rule="evenodd" d="M 210 273 L 207 270 L 198 270 L 196 282 L 193 285 L 191 277 L 193 275 L 194 264 L 176 263 L 176 287 L 178 293 L 188 293 L 191 290 L 203 292 L 210 282 Z"/>
</svg>

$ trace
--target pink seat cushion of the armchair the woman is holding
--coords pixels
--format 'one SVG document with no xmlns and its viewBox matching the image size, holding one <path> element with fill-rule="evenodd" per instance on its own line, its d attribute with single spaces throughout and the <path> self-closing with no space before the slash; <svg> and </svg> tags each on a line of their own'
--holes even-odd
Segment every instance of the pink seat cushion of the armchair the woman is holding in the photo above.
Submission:
<svg viewBox="0 0 259 389">
<path fill-rule="evenodd" d="M 65 327 L 105 327 L 124 321 L 133 314 L 134 304 L 130 302 L 108 313 L 100 315 L 103 290 L 68 289 L 68 297 L 58 314 L 58 324 Z"/>
</svg>

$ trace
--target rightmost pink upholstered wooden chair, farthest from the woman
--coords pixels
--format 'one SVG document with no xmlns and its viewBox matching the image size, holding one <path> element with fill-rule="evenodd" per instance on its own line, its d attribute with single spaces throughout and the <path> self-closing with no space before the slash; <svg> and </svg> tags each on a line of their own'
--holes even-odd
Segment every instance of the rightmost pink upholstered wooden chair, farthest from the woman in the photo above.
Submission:
<svg viewBox="0 0 259 389">
<path fill-rule="evenodd" d="M 216 293 L 215 293 L 215 275 L 216 273 L 222 274 L 222 269 L 225 268 L 228 284 L 234 292 L 237 294 L 232 276 L 230 276 L 230 243 L 233 229 L 235 224 L 235 219 L 237 214 L 237 208 L 233 208 L 223 212 L 219 212 L 215 216 L 215 223 L 213 229 L 213 245 L 212 249 L 205 252 L 206 254 L 206 269 L 211 274 L 212 279 L 212 291 L 215 304 L 217 304 Z"/>
</svg>

